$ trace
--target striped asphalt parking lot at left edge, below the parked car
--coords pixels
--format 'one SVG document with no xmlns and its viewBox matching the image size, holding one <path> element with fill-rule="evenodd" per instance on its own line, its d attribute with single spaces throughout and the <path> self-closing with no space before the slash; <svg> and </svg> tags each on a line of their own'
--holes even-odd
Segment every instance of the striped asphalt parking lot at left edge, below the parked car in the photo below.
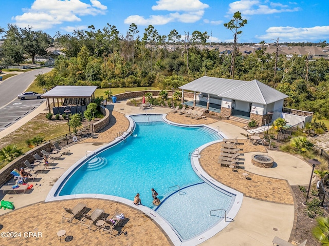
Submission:
<svg viewBox="0 0 329 246">
<path fill-rule="evenodd" d="M 38 108 L 45 99 L 20 100 L 15 99 L 6 107 L 0 109 L 0 131 L 5 130 L 34 109 Z"/>
</svg>

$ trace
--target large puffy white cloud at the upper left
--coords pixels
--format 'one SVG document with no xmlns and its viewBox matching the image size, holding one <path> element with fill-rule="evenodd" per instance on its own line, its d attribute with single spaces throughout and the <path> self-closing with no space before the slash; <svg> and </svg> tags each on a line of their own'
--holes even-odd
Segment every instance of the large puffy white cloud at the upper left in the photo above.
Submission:
<svg viewBox="0 0 329 246">
<path fill-rule="evenodd" d="M 64 22 L 80 22 L 79 16 L 104 14 L 107 7 L 98 0 L 90 0 L 90 4 L 81 0 L 35 0 L 25 13 L 12 17 L 19 27 L 33 29 L 49 29 Z"/>
</svg>

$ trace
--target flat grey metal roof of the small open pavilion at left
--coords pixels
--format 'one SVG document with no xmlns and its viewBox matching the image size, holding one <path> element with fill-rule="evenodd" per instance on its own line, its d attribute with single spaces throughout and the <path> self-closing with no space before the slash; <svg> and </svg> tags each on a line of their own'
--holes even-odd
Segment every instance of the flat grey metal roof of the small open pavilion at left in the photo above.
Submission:
<svg viewBox="0 0 329 246">
<path fill-rule="evenodd" d="M 92 97 L 97 86 L 56 86 L 42 95 L 43 98 Z"/>
</svg>

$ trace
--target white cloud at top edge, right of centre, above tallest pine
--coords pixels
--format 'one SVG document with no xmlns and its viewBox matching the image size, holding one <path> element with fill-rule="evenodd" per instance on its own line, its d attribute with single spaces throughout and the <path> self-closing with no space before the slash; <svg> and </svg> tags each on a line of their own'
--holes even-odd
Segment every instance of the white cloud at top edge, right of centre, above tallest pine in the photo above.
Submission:
<svg viewBox="0 0 329 246">
<path fill-rule="evenodd" d="M 293 4 L 293 3 L 290 3 Z M 295 12 L 300 8 L 290 8 L 288 5 L 281 3 L 272 3 L 267 0 L 261 2 L 259 0 L 240 0 L 229 4 L 228 13 L 232 14 L 240 11 L 242 15 L 255 15 L 255 14 L 274 14 L 282 12 Z"/>
</svg>

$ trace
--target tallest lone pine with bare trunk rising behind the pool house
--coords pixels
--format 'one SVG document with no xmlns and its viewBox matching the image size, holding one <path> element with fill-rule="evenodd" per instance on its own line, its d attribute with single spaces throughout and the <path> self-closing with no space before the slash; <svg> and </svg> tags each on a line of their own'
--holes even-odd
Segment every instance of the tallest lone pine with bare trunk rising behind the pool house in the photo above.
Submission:
<svg viewBox="0 0 329 246">
<path fill-rule="evenodd" d="M 233 46 L 232 46 L 232 52 L 230 53 L 231 57 L 231 75 L 232 79 L 234 79 L 234 69 L 235 69 L 235 59 L 236 56 L 239 54 L 239 45 L 237 44 L 237 39 L 239 38 L 239 35 L 242 33 L 242 31 L 239 29 L 244 27 L 247 24 L 247 19 L 242 19 L 241 13 L 239 11 L 235 12 L 233 14 L 233 19 L 231 19 L 228 23 L 224 23 L 224 27 L 231 30 L 233 33 Z"/>
</svg>

